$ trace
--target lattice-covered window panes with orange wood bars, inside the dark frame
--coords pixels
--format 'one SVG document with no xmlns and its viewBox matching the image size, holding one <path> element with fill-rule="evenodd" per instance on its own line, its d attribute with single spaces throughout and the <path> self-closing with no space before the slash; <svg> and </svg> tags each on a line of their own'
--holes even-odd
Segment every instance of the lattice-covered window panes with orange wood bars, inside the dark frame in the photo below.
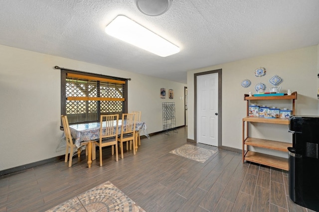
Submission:
<svg viewBox="0 0 319 212">
<path fill-rule="evenodd" d="M 125 81 L 72 73 L 65 80 L 66 114 L 123 111 Z"/>
</svg>

